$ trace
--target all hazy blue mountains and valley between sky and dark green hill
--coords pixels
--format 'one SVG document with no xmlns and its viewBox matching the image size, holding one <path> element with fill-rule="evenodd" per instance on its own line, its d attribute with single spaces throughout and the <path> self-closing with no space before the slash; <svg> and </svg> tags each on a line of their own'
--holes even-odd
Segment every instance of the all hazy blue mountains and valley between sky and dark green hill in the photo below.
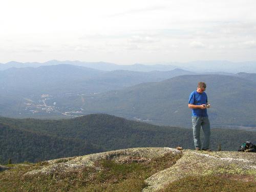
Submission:
<svg viewBox="0 0 256 192">
<path fill-rule="evenodd" d="M 254 130 L 256 62 L 167 64 L 57 60 L 0 64 L 0 115 L 59 119 L 107 113 L 190 127 L 188 95 L 198 81 L 205 81 L 212 125 Z"/>
</svg>

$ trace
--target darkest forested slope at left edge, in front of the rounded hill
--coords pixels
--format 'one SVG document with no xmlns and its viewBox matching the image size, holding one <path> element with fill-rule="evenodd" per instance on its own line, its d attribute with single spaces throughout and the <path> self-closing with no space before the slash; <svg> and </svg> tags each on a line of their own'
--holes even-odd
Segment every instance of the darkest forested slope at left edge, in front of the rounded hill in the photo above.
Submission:
<svg viewBox="0 0 256 192">
<path fill-rule="evenodd" d="M 61 138 L 42 132 L 16 129 L 0 123 L 0 164 L 12 162 L 38 162 L 102 152 L 86 140 Z"/>
</svg>

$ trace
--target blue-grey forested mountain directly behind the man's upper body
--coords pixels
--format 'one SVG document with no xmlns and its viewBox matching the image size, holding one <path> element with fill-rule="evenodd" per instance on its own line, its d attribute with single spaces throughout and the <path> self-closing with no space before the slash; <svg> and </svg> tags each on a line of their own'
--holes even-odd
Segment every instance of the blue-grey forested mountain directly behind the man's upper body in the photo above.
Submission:
<svg viewBox="0 0 256 192">
<path fill-rule="evenodd" d="M 212 126 L 256 127 L 256 83 L 237 76 L 183 75 L 84 97 L 84 102 L 73 101 L 80 103 L 85 114 L 106 113 L 148 123 L 190 127 L 188 97 L 199 81 L 207 84 L 211 104 L 207 111 Z"/>
</svg>

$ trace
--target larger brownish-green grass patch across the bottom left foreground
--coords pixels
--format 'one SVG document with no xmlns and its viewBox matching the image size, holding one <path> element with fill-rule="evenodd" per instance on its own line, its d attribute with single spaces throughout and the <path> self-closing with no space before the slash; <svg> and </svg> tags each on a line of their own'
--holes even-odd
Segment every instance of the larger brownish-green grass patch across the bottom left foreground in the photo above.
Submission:
<svg viewBox="0 0 256 192">
<path fill-rule="evenodd" d="M 181 157 L 171 153 L 143 162 L 118 163 L 103 159 L 95 167 L 74 169 L 71 172 L 55 172 L 51 175 L 24 177 L 30 170 L 44 164 L 15 167 L 0 173 L 0 191 L 141 191 L 144 180 L 168 168 Z"/>
</svg>

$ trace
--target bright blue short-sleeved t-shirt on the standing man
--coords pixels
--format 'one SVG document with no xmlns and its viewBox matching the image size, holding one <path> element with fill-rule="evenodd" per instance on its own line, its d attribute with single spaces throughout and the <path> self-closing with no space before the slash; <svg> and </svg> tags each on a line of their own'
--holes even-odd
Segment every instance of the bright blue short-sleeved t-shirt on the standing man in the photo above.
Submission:
<svg viewBox="0 0 256 192">
<path fill-rule="evenodd" d="M 188 100 L 189 104 L 195 104 L 195 105 L 201 105 L 201 104 L 206 104 L 207 103 L 207 95 L 205 92 L 203 93 L 198 93 L 197 91 L 193 91 L 190 95 L 189 95 L 189 100 Z M 192 115 L 195 116 L 203 116 L 203 117 L 207 117 L 207 110 L 204 109 L 192 109 Z"/>
</svg>

